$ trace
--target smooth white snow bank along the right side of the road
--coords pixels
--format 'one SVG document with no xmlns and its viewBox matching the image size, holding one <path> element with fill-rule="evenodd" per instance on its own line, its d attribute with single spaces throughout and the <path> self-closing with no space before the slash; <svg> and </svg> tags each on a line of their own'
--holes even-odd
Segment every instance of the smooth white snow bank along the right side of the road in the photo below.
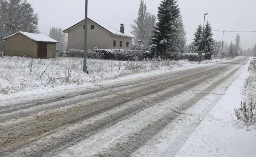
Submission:
<svg viewBox="0 0 256 157">
<path fill-rule="evenodd" d="M 234 108 L 239 106 L 241 89 L 247 78 L 247 67 L 242 75 L 201 122 L 176 157 L 254 157 L 256 129 L 246 131 L 233 120 Z"/>
</svg>

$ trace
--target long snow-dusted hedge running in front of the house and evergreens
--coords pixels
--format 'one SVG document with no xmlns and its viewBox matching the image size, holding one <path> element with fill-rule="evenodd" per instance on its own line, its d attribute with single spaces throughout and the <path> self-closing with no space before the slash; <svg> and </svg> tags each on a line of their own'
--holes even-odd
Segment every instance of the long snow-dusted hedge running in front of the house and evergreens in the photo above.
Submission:
<svg viewBox="0 0 256 157">
<path fill-rule="evenodd" d="M 83 57 L 83 50 L 69 49 L 62 56 L 66 57 Z M 119 49 L 93 49 L 87 52 L 87 58 L 101 59 L 101 60 L 145 60 L 152 59 L 151 51 L 140 50 L 119 50 Z M 179 53 L 179 52 L 165 52 L 162 60 L 190 60 L 199 61 L 200 56 L 197 53 Z M 201 56 L 204 60 L 204 54 Z"/>
</svg>

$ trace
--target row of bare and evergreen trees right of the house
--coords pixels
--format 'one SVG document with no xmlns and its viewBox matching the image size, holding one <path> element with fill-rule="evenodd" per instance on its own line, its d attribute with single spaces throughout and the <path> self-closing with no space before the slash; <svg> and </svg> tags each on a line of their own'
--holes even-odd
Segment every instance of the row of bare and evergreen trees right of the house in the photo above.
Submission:
<svg viewBox="0 0 256 157">
<path fill-rule="evenodd" d="M 158 22 L 156 22 L 158 20 Z M 210 22 L 207 21 L 205 29 L 198 25 L 194 33 L 194 41 L 186 44 L 186 32 L 183 25 L 182 15 L 176 0 L 162 0 L 158 7 L 158 15 L 152 15 L 147 11 L 144 0 L 140 1 L 138 17 L 131 25 L 135 42 L 133 49 L 149 50 L 155 57 L 162 57 L 168 51 L 171 52 L 192 52 L 205 53 L 205 59 L 210 60 L 212 55 L 235 57 L 243 55 L 240 35 L 237 34 L 233 43 L 228 44 L 216 41 L 213 38 L 213 30 Z M 256 55 L 254 49 L 249 49 L 251 55 Z"/>
</svg>

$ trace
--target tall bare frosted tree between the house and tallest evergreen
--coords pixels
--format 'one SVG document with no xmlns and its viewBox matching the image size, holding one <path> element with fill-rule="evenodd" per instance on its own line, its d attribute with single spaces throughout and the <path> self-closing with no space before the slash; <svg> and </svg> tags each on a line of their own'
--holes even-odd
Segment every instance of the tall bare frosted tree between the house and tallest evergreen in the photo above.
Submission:
<svg viewBox="0 0 256 157">
<path fill-rule="evenodd" d="M 151 32 L 154 29 L 156 16 L 147 11 L 144 0 L 140 1 L 138 17 L 131 24 L 132 34 L 135 35 L 135 44 L 142 47 L 149 47 Z"/>
</svg>

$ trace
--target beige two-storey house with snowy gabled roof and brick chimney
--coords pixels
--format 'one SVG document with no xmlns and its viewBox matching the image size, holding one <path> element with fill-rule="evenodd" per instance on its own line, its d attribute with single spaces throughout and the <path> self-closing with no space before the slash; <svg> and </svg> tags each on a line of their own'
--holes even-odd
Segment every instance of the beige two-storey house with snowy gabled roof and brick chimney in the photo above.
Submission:
<svg viewBox="0 0 256 157">
<path fill-rule="evenodd" d="M 68 49 L 84 49 L 85 20 L 64 30 L 68 34 Z M 131 49 L 132 34 L 125 32 L 124 24 L 120 28 L 115 24 L 101 20 L 87 19 L 87 48 L 94 49 Z"/>
</svg>

